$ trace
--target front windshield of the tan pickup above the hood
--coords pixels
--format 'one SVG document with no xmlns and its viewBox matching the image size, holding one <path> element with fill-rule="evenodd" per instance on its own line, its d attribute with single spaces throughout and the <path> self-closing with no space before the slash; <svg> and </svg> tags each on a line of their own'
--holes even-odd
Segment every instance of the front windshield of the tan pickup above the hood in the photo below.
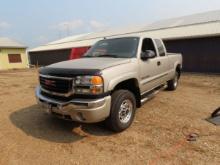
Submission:
<svg viewBox="0 0 220 165">
<path fill-rule="evenodd" d="M 136 57 L 139 38 L 105 39 L 97 42 L 83 57 L 132 58 Z"/>
</svg>

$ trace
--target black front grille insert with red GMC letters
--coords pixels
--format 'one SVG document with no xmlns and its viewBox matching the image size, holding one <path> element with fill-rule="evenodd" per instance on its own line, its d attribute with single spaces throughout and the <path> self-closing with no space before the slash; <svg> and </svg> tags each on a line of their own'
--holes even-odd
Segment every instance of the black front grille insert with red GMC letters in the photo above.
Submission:
<svg viewBox="0 0 220 165">
<path fill-rule="evenodd" d="M 40 76 L 40 85 L 43 89 L 61 94 L 69 93 L 72 90 L 72 82 L 72 79 Z"/>
</svg>

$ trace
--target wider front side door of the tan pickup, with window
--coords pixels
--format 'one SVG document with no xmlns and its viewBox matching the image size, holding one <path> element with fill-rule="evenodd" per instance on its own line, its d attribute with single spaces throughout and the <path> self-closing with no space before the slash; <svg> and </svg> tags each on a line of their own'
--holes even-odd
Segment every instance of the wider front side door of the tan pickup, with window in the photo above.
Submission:
<svg viewBox="0 0 220 165">
<path fill-rule="evenodd" d="M 150 38 L 143 39 L 142 42 L 142 53 L 146 51 L 153 51 L 155 53 L 155 57 L 149 58 L 147 60 L 143 60 L 140 57 L 139 70 L 140 70 L 140 90 L 143 94 L 154 87 L 160 85 L 160 77 L 161 69 L 159 64 L 159 56 L 157 54 L 154 42 Z"/>
</svg>

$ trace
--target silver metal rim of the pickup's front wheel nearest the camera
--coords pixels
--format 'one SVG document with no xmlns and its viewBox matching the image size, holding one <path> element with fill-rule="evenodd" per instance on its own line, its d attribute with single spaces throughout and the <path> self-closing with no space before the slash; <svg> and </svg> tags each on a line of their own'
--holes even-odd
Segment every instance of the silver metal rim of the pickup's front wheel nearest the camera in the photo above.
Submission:
<svg viewBox="0 0 220 165">
<path fill-rule="evenodd" d="M 121 123 L 128 123 L 132 116 L 133 104 L 130 100 L 124 100 L 119 110 L 119 120 Z"/>
</svg>

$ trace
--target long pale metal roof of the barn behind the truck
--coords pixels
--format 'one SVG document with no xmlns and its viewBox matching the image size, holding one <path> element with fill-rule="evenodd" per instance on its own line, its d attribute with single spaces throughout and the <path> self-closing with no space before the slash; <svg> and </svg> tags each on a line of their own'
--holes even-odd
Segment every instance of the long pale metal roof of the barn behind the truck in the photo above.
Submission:
<svg viewBox="0 0 220 165">
<path fill-rule="evenodd" d="M 148 35 L 162 39 L 220 35 L 220 10 L 167 19 L 144 26 L 116 28 L 102 32 L 68 37 L 30 50 L 45 51 L 93 45 L 104 37 Z"/>
</svg>

